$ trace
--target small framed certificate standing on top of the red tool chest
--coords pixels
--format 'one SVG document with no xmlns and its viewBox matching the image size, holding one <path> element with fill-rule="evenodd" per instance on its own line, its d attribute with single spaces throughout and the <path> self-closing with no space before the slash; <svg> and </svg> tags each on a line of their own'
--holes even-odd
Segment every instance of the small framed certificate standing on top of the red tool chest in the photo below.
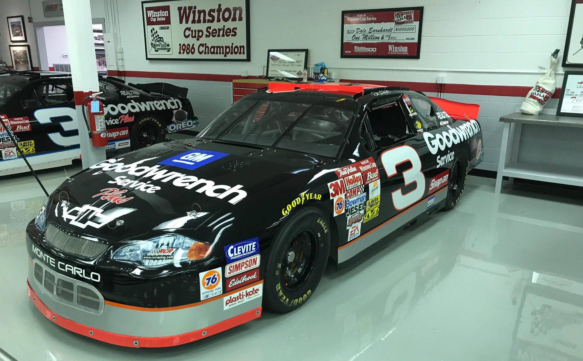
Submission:
<svg viewBox="0 0 583 361">
<path fill-rule="evenodd" d="M 271 49 L 267 51 L 267 78 L 301 79 L 307 69 L 307 49 Z"/>
</svg>

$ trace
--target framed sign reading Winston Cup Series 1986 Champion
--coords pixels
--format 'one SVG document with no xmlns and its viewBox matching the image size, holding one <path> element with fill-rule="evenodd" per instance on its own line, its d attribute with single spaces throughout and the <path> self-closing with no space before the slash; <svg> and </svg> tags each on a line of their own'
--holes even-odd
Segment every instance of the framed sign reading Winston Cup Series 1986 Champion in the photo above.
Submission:
<svg viewBox="0 0 583 361">
<path fill-rule="evenodd" d="M 250 61 L 249 0 L 142 1 L 146 59 Z"/>
</svg>

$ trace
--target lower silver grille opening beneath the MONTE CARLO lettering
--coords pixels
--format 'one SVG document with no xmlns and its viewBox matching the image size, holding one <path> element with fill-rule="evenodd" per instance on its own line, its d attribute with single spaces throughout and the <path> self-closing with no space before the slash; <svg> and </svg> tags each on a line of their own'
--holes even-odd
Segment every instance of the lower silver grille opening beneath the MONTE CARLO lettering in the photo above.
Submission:
<svg viewBox="0 0 583 361">
<path fill-rule="evenodd" d="M 51 299 L 89 313 L 99 315 L 103 312 L 104 299 L 96 288 L 58 274 L 38 260 L 33 262 L 34 279 Z"/>
</svg>

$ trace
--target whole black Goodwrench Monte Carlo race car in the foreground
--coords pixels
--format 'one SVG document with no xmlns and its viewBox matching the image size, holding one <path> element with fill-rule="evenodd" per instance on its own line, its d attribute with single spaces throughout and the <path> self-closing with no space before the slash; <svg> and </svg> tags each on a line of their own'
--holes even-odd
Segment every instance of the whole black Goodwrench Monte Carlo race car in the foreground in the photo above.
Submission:
<svg viewBox="0 0 583 361">
<path fill-rule="evenodd" d="M 27 225 L 29 297 L 61 327 L 134 347 L 297 309 L 329 258 L 455 207 L 483 158 L 476 117 L 398 87 L 270 83 L 196 138 L 62 183 Z"/>
</svg>

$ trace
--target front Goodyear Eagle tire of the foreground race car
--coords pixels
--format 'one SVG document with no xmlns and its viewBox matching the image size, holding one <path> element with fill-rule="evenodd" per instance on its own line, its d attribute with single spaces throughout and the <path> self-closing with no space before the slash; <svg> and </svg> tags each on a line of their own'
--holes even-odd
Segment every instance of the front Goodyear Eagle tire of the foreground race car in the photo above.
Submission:
<svg viewBox="0 0 583 361">
<path fill-rule="evenodd" d="M 268 310 L 293 311 L 314 293 L 330 253 L 326 219 L 307 206 L 291 213 L 276 233 L 265 266 L 263 302 Z"/>
</svg>

